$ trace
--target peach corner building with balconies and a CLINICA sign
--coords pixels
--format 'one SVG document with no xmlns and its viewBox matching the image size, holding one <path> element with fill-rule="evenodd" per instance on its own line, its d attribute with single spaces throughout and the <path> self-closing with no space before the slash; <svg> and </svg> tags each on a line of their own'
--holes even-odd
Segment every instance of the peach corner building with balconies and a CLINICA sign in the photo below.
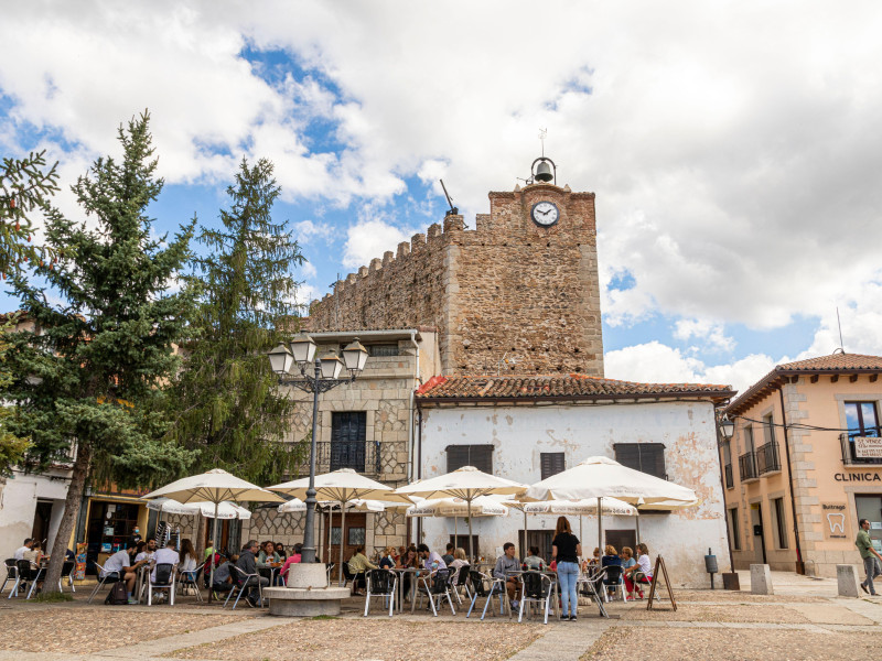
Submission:
<svg viewBox="0 0 882 661">
<path fill-rule="evenodd" d="M 882 552 L 882 357 L 778 365 L 725 409 L 720 445 L 736 568 L 835 576 L 854 564 L 858 519 Z"/>
</svg>

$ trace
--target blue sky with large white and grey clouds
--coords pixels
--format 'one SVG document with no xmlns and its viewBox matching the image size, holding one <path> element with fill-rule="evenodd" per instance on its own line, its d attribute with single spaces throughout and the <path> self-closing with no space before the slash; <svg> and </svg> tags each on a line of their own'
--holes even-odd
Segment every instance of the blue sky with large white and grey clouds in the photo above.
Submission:
<svg viewBox="0 0 882 661">
<path fill-rule="evenodd" d="M 837 307 L 846 349 L 882 353 L 874 3 L 35 1 L 6 21 L 0 153 L 45 148 L 69 185 L 149 108 L 158 231 L 216 223 L 240 159 L 269 158 L 303 300 L 440 221 L 440 177 L 473 224 L 546 128 L 558 181 L 596 194 L 607 376 L 744 388 L 837 348 Z"/>
</svg>

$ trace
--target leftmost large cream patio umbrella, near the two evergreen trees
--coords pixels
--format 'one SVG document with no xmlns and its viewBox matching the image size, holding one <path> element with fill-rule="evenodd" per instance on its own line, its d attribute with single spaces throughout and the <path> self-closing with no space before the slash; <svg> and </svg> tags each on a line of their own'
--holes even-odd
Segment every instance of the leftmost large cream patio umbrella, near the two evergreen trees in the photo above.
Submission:
<svg viewBox="0 0 882 661">
<path fill-rule="evenodd" d="M 184 505 L 189 502 L 211 502 L 214 505 L 214 525 L 212 527 L 212 539 L 217 542 L 217 512 L 219 506 L 225 500 L 236 502 L 281 502 L 283 499 L 271 491 L 261 489 L 241 478 L 230 475 L 220 468 L 214 468 L 207 473 L 193 475 L 175 480 L 147 496 L 142 500 L 153 500 L 155 498 L 171 498 Z M 214 562 L 209 574 L 208 585 L 214 585 Z M 212 600 L 212 590 L 208 590 L 208 602 Z"/>
</svg>

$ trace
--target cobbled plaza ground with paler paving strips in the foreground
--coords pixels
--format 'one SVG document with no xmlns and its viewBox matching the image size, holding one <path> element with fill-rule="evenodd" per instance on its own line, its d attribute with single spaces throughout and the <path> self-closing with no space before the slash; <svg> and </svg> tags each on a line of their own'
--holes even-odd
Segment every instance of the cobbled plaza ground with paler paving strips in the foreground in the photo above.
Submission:
<svg viewBox="0 0 882 661">
<path fill-rule="evenodd" d="M 0 603 L 0 661 L 621 661 L 652 659 L 835 661 L 874 658 L 882 649 L 882 597 L 845 599 L 833 579 L 773 572 L 776 594 L 678 590 L 663 603 L 609 605 L 614 619 L 581 606 L 576 622 L 418 613 L 362 617 L 351 599 L 338 618 L 276 618 L 183 597 L 174 607 L 86 604 L 86 589 L 63 604 Z M 880 585 L 882 588 L 882 585 Z M 615 617 L 617 616 L 617 617 Z"/>
</svg>

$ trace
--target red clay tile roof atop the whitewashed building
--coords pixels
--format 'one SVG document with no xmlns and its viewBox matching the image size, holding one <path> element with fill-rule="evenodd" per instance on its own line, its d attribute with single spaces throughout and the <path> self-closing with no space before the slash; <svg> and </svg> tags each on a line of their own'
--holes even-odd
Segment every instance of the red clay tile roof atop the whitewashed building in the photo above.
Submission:
<svg viewBox="0 0 882 661">
<path fill-rule="evenodd" d="M 704 383 L 635 383 L 585 375 L 546 376 L 463 376 L 433 377 L 417 390 L 417 400 L 610 400 L 634 398 L 710 398 L 724 401 L 734 397 L 731 386 Z"/>
</svg>

